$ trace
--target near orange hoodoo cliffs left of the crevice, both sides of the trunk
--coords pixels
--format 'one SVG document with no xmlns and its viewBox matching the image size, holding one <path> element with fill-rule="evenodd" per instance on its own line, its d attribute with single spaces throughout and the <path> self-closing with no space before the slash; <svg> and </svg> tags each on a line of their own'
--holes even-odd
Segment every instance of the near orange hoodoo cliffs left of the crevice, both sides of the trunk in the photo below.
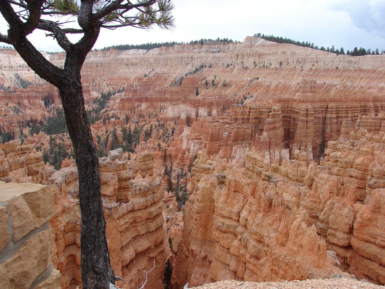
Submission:
<svg viewBox="0 0 385 289">
<path fill-rule="evenodd" d="M 49 185 L 55 203 L 50 219 L 55 235 L 53 265 L 62 274 L 61 288 L 81 285 L 81 217 L 74 161 L 64 162 L 56 171 L 49 164 L 42 165 L 41 153 L 36 153 L 30 145 L 20 146 L 15 140 L 1 148 L 6 181 Z M 28 161 L 31 156 L 35 157 L 34 161 Z M 40 165 L 37 172 L 32 169 L 36 164 Z M 154 169 L 152 153 L 141 153 L 129 169 L 122 149 L 110 151 L 108 157 L 100 158 L 99 167 L 111 264 L 115 274 L 124 279 L 119 286 L 141 287 L 143 270 L 149 271 L 155 262 L 146 287 L 161 288 L 168 241 L 160 190 L 162 178 Z"/>
</svg>

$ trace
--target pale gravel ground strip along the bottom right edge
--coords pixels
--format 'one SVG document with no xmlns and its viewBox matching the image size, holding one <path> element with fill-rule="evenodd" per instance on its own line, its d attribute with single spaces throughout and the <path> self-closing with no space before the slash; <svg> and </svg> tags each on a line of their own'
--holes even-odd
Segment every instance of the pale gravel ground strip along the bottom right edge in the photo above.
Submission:
<svg viewBox="0 0 385 289">
<path fill-rule="evenodd" d="M 331 279 L 308 279 L 302 281 L 283 282 L 242 282 L 242 281 L 218 281 L 216 283 L 204 284 L 196 289 L 384 289 L 366 280 L 331 278 Z"/>
</svg>

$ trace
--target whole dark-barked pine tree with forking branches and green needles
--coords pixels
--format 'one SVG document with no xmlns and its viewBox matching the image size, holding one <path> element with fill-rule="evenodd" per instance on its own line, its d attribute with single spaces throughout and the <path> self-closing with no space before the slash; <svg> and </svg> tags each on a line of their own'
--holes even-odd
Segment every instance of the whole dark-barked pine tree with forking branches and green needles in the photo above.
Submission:
<svg viewBox="0 0 385 289">
<path fill-rule="evenodd" d="M 169 1 L 143 0 L 132 4 L 130 1 L 124 3 L 124 0 L 114 0 L 105 2 L 102 9 L 93 13 L 95 2 L 95 0 L 81 0 L 79 11 L 68 13 L 77 15 L 77 22 L 81 29 L 67 29 L 62 28 L 59 23 L 41 18 L 42 14 L 67 14 L 55 9 L 51 10 L 52 7 L 49 7 L 45 0 L 12 1 L 13 6 L 21 9 L 18 12 L 15 12 L 10 5 L 10 0 L 0 0 L 0 12 L 10 27 L 8 35 L 0 34 L 0 42 L 13 45 L 33 71 L 59 89 L 79 171 L 79 203 L 82 214 L 80 267 L 83 289 L 108 289 L 110 282 L 114 284 L 115 276 L 110 265 L 105 237 L 99 159 L 84 108 L 80 70 L 85 57 L 99 36 L 100 27 L 106 27 L 103 24 L 109 22 L 108 19 L 104 19 L 105 16 L 117 12 L 114 14 L 117 18 L 113 22 L 119 25 L 109 27 L 147 28 L 151 24 L 157 24 L 167 29 L 173 26 L 173 18 L 169 13 L 173 5 Z M 147 9 L 155 3 L 159 3 L 159 10 Z M 137 9 L 137 17 L 124 15 L 131 9 Z M 157 15 L 158 12 L 159 15 Z M 50 32 L 49 35 L 54 36 L 60 47 L 65 50 L 67 55 L 63 69 L 46 60 L 27 40 L 27 35 L 35 29 Z M 66 33 L 79 32 L 84 33 L 82 39 L 72 44 Z"/>
</svg>

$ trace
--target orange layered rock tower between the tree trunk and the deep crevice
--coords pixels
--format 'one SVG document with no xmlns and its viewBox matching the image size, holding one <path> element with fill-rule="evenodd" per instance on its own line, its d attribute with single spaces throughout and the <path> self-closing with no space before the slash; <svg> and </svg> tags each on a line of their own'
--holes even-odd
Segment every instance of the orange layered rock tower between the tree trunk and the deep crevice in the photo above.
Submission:
<svg viewBox="0 0 385 289">
<path fill-rule="evenodd" d="M 120 270 L 115 269 L 115 274 L 120 271 L 123 284 L 139 288 L 143 270 L 149 271 L 155 262 L 156 266 L 149 274 L 147 284 L 151 288 L 159 288 L 162 286 L 163 266 L 166 262 L 163 229 L 165 220 L 160 191 L 162 178 L 154 171 L 152 154 L 149 151 L 141 153 L 137 160 L 139 170 L 134 168 L 132 175 L 127 176 L 124 171 L 119 173 L 118 165 L 122 168 L 123 162 L 124 157 L 115 160 L 120 187 L 117 193 L 119 202 L 105 205 L 105 216 L 109 223 L 106 229 L 107 239 L 110 235 L 109 244 L 112 240 L 116 241 L 118 251 L 113 254 L 112 250 L 111 253 L 119 261 L 117 264 Z M 127 170 L 127 158 L 125 165 Z M 131 179 L 131 176 L 134 178 Z M 111 219 L 114 222 L 109 222 Z M 119 232 L 119 236 L 116 236 L 116 232 Z"/>
</svg>

